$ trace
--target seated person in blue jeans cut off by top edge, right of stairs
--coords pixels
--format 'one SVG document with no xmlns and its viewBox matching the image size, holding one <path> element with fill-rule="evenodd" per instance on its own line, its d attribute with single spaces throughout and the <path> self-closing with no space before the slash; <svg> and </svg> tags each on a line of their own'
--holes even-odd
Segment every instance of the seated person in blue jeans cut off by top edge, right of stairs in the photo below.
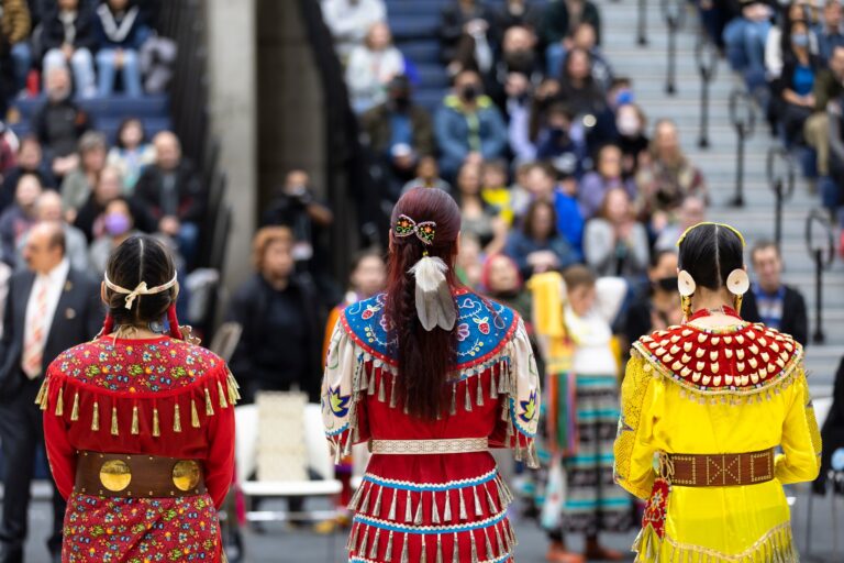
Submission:
<svg viewBox="0 0 844 563">
<path fill-rule="evenodd" d="M 723 32 L 726 59 L 736 73 L 764 76 L 765 42 L 774 18 L 774 2 L 740 0 L 741 13 L 726 24 Z"/>
</svg>

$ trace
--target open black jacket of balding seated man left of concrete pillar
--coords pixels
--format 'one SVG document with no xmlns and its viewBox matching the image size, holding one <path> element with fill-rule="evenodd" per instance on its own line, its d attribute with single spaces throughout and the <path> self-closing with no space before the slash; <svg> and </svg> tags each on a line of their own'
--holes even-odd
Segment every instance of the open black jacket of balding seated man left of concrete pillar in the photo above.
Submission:
<svg viewBox="0 0 844 563">
<path fill-rule="evenodd" d="M 147 166 L 135 185 L 135 200 L 146 207 L 156 221 L 164 217 L 162 190 L 164 173 L 158 166 Z M 181 222 L 199 223 L 206 212 L 206 190 L 193 165 L 182 158 L 176 167 L 176 192 L 178 195 L 177 218 Z"/>
</svg>

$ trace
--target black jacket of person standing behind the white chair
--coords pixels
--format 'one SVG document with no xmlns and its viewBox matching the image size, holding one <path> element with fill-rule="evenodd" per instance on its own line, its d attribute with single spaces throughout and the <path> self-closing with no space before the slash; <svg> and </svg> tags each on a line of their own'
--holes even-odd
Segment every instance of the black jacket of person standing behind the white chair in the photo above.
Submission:
<svg viewBox="0 0 844 563">
<path fill-rule="evenodd" d="M 234 294 L 229 307 L 226 320 L 236 322 L 243 328 L 241 340 L 229 365 L 247 394 L 251 382 L 266 382 L 271 378 L 288 384 L 297 383 L 300 389 L 308 393 L 309 400 L 315 402 L 319 401 L 322 382 L 323 366 L 320 356 L 324 318 L 318 305 L 316 289 L 309 276 L 292 277 L 290 288 L 299 294 L 302 303 L 307 350 L 268 350 L 265 345 L 269 325 L 267 309 L 274 289 L 260 274 L 255 274 Z M 285 380 L 285 374 L 271 373 L 273 360 L 269 356 L 273 354 L 284 356 L 291 353 L 306 354 L 308 376 L 304 380 Z M 246 399 L 251 400 L 252 397 L 247 396 Z"/>
</svg>

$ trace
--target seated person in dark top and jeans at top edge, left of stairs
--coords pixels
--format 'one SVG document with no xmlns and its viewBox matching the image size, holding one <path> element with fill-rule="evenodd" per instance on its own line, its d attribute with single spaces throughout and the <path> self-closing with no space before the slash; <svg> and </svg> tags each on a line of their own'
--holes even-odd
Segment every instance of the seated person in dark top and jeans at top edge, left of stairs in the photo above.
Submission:
<svg viewBox="0 0 844 563">
<path fill-rule="evenodd" d="M 567 46 L 565 41 L 571 36 L 580 23 L 588 23 L 595 30 L 596 44 L 601 44 L 601 12 L 589 0 L 559 0 L 549 2 L 543 16 L 542 38 L 547 45 L 545 59 L 549 76 L 559 73 Z M 556 60 L 556 63 L 552 63 Z M 555 65 L 555 66 L 552 66 Z"/>
</svg>

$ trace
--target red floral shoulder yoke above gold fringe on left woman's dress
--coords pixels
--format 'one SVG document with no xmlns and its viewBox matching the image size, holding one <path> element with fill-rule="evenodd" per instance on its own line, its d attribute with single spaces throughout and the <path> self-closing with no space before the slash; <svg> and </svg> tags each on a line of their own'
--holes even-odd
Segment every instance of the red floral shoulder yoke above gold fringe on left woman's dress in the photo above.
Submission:
<svg viewBox="0 0 844 563">
<path fill-rule="evenodd" d="M 110 391 L 155 393 L 190 385 L 219 363 L 208 350 L 179 340 L 125 343 L 104 338 L 62 353 L 55 365 L 84 385 Z"/>
</svg>

